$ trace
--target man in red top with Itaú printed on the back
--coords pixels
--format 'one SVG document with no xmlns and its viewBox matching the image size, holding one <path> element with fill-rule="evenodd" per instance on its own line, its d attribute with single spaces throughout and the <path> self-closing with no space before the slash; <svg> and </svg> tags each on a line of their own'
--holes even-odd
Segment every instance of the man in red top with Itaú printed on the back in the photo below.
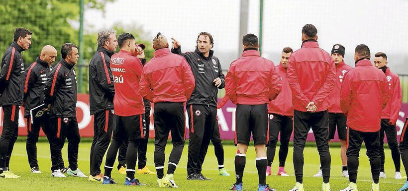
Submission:
<svg viewBox="0 0 408 191">
<path fill-rule="evenodd" d="M 140 141 L 145 138 L 146 122 L 142 96 L 139 93 L 139 80 L 142 74 L 142 63 L 134 55 L 135 40 L 132 34 L 123 33 L 117 39 L 120 51 L 112 55 L 110 68 L 115 82 L 115 97 L 113 107 L 117 115 L 116 128 L 106 154 L 105 174 L 103 184 L 114 184 L 110 178 L 117 150 L 127 139 L 126 151 L 126 178 L 125 185 L 145 185 L 134 178 L 137 152 Z M 141 50 L 141 49 L 140 49 Z M 140 51 L 141 53 L 141 51 Z"/>
</svg>

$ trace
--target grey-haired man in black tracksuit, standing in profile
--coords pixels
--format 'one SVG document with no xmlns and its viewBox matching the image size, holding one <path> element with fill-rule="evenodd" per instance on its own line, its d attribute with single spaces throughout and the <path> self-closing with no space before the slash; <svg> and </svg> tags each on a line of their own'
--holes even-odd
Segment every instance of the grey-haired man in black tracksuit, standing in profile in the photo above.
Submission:
<svg viewBox="0 0 408 191">
<path fill-rule="evenodd" d="M 102 158 L 116 121 L 113 110 L 115 89 L 110 71 L 110 57 L 117 47 L 116 32 L 101 31 L 98 33 L 97 41 L 97 52 L 89 63 L 89 103 L 91 115 L 94 115 L 94 140 L 91 146 L 91 173 L 88 180 L 102 182 Z"/>
</svg>

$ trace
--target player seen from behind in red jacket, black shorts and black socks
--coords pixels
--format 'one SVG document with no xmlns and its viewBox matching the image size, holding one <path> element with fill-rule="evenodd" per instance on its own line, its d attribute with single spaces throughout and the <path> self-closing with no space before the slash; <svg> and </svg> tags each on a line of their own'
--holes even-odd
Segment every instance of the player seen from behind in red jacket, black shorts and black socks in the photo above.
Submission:
<svg viewBox="0 0 408 191">
<path fill-rule="evenodd" d="M 282 84 L 272 61 L 261 57 L 258 51 L 258 37 L 247 34 L 242 38 L 242 57 L 229 66 L 225 77 L 225 94 L 236 108 L 235 155 L 236 182 L 230 190 L 242 191 L 242 175 L 245 168 L 245 154 L 251 134 L 256 152 L 258 169 L 258 191 L 276 191 L 266 184 L 267 158 L 265 145 L 268 143 L 267 103 L 281 92 Z"/>
</svg>

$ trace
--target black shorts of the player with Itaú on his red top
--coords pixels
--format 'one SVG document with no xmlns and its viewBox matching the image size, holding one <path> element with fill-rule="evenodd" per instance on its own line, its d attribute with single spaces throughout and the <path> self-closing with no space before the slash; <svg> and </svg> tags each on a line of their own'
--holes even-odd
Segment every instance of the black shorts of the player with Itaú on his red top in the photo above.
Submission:
<svg viewBox="0 0 408 191">
<path fill-rule="evenodd" d="M 117 116 L 116 127 L 113 129 L 115 140 L 134 141 L 146 135 L 145 114 L 135 116 Z"/>
</svg>

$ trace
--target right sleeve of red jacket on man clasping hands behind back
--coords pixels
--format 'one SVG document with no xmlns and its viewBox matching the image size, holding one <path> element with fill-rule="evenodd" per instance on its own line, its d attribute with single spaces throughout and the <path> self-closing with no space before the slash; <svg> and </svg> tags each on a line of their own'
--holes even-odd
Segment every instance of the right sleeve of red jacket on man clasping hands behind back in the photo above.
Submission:
<svg viewBox="0 0 408 191">
<path fill-rule="evenodd" d="M 330 58 L 330 63 L 326 68 L 326 79 L 323 86 L 318 90 L 317 94 L 313 98 L 313 102 L 316 104 L 317 107 L 321 106 L 321 102 L 323 102 L 327 96 L 330 95 L 331 91 L 334 88 L 335 78 L 336 78 L 336 66 L 334 61 Z"/>
</svg>

